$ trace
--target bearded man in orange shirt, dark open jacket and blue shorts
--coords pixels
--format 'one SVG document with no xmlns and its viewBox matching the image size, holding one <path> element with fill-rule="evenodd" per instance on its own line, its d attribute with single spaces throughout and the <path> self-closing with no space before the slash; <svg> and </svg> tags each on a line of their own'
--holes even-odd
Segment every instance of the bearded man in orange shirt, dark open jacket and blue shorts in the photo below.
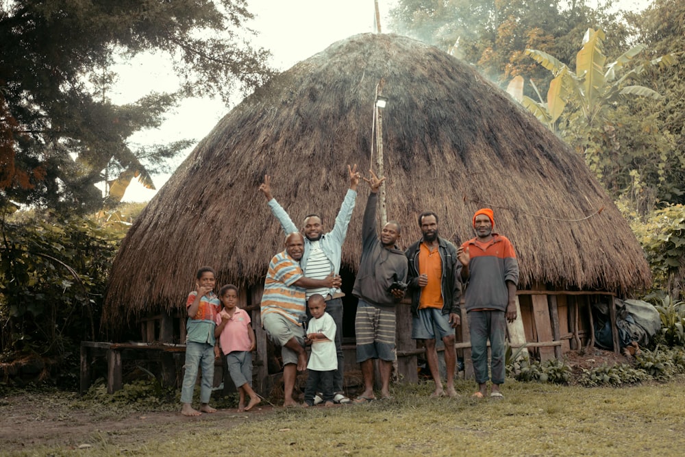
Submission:
<svg viewBox="0 0 685 457">
<path fill-rule="evenodd" d="M 459 302 L 462 297 L 460 274 L 462 265 L 457 249 L 438 236 L 438 216 L 434 212 L 419 215 L 423 236 L 406 251 L 409 260 L 408 290 L 412 293 L 412 338 L 423 341 L 426 361 L 435 382 L 431 397 L 445 395 L 438 368 L 436 334 L 445 343 L 447 395 L 456 397 L 454 369 L 457 354 L 454 349 L 455 328 L 460 324 Z"/>
</svg>

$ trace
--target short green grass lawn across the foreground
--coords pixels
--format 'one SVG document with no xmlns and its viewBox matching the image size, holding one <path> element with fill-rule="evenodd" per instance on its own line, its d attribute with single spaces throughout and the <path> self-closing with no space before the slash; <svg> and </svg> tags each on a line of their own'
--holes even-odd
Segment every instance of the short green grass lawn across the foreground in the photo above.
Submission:
<svg viewBox="0 0 685 457">
<path fill-rule="evenodd" d="M 188 420 L 181 432 L 162 439 L 149 434 L 135 448 L 103 439 L 87 449 L 14 455 L 682 456 L 684 387 L 683 377 L 624 388 L 508 380 L 505 399 L 479 400 L 470 397 L 472 382 L 458 382 L 456 399 L 429 399 L 429 384 L 397 385 L 390 401 L 275 408 L 246 413 L 247 420 L 225 428 Z"/>
</svg>

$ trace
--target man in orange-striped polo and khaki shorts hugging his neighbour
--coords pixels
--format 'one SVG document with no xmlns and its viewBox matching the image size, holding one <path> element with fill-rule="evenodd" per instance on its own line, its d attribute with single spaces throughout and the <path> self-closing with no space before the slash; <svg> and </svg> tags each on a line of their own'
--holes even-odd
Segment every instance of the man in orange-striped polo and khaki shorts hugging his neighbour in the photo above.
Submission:
<svg viewBox="0 0 685 457">
<path fill-rule="evenodd" d="M 292 398 L 297 371 L 307 369 L 304 350 L 303 322 L 307 318 L 305 290 L 307 288 L 340 287 L 340 276 L 331 272 L 323 279 L 305 277 L 299 266 L 304 252 L 304 237 L 299 232 L 286 236 L 286 250 L 276 254 L 269 263 L 264 280 L 261 316 L 264 330 L 275 344 L 282 347 L 283 406 L 297 406 Z"/>
</svg>

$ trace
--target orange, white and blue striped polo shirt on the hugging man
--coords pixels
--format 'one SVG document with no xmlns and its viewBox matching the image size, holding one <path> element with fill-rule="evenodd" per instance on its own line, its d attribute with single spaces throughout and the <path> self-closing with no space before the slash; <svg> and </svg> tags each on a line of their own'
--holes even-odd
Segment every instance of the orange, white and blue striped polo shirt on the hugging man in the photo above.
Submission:
<svg viewBox="0 0 685 457">
<path fill-rule="evenodd" d="M 295 323 L 306 316 L 305 289 L 294 286 L 303 277 L 299 263 L 286 251 L 276 254 L 269 262 L 269 272 L 264 280 L 261 315 L 277 312 Z"/>
</svg>

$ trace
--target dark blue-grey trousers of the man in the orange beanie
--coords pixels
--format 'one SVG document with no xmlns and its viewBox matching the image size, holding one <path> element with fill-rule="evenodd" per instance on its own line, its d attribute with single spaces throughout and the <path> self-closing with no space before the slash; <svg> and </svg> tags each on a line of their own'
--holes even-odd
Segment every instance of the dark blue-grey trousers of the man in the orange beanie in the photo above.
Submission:
<svg viewBox="0 0 685 457">
<path fill-rule="evenodd" d="M 507 320 L 504 311 L 469 312 L 469 332 L 471 332 L 471 360 L 475 372 L 475 382 L 488 382 L 488 339 L 490 340 L 490 371 L 493 384 L 504 384 L 505 339 Z"/>
</svg>

